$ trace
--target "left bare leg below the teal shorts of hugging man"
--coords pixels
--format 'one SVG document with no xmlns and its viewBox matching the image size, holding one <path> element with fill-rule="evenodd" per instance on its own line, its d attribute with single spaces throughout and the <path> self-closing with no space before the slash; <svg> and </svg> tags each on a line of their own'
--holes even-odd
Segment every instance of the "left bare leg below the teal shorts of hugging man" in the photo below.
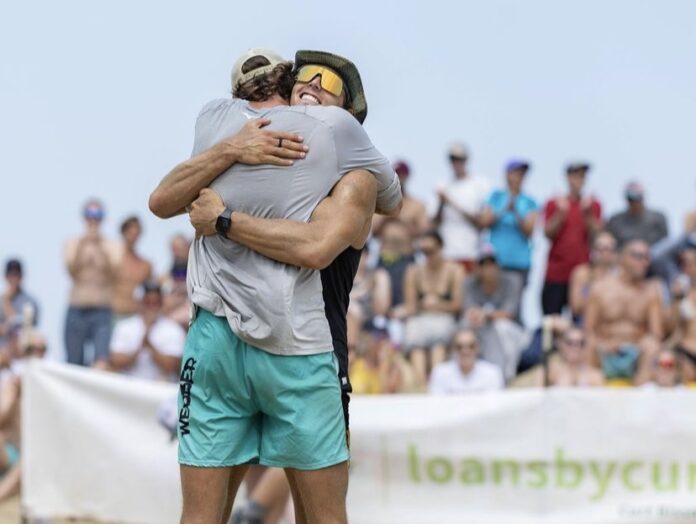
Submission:
<svg viewBox="0 0 696 524">
<path fill-rule="evenodd" d="M 246 466 L 238 466 L 244 468 Z M 181 466 L 184 508 L 181 524 L 220 524 L 228 499 L 231 469 Z M 243 473 L 240 475 L 240 481 Z"/>
</svg>

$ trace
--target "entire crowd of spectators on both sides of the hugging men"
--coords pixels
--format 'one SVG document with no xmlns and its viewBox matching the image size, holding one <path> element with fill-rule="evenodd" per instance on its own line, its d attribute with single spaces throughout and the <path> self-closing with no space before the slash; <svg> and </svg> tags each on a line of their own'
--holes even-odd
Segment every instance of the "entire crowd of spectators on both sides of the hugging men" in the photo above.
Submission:
<svg viewBox="0 0 696 524">
<path fill-rule="evenodd" d="M 451 181 L 432 215 L 404 190 L 399 218 L 375 216 L 347 315 L 355 394 L 461 394 L 516 386 L 684 387 L 696 383 L 696 212 L 670 237 L 665 216 L 630 182 L 626 209 L 603 214 L 585 192 L 587 162 L 565 168 L 568 190 L 540 205 L 525 189 L 532 166 L 511 159 L 504 184 L 470 172 L 465 146 L 448 151 Z M 84 230 L 65 247 L 71 288 L 69 363 L 176 381 L 190 304 L 190 239 L 171 241 L 170 270 L 138 251 L 142 225 L 102 231 L 90 199 Z M 542 222 L 542 224 L 540 224 Z M 550 249 L 539 326 L 522 323 L 522 296 L 538 227 Z M 39 304 L 23 265 L 5 266 L 0 307 L 0 500 L 19 486 L 21 371 L 46 353 Z"/>
</svg>

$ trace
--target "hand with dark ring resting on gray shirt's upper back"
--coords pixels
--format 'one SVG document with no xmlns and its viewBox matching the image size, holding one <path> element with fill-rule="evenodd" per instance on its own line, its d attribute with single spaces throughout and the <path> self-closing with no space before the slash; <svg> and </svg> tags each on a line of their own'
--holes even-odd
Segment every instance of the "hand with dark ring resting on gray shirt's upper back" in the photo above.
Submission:
<svg viewBox="0 0 696 524">
<path fill-rule="evenodd" d="M 250 120 L 239 133 L 224 141 L 238 163 L 291 166 L 293 160 L 306 156 L 309 148 L 302 143 L 304 138 L 295 133 L 262 129 L 270 123 L 267 118 Z"/>
</svg>

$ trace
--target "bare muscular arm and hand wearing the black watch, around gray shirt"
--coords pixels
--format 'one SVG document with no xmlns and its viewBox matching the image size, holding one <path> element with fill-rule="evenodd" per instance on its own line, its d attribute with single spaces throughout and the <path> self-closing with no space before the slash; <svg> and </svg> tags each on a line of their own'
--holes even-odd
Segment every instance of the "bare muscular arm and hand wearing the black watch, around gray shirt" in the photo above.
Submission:
<svg viewBox="0 0 696 524">
<path fill-rule="evenodd" d="M 279 262 L 323 269 L 356 242 L 375 210 L 376 197 L 374 176 L 363 170 L 351 171 L 319 203 L 310 222 L 257 218 L 233 210 L 227 236 Z M 190 213 L 196 233 L 215 234 L 215 222 L 223 210 L 217 193 L 201 191 Z"/>
</svg>

